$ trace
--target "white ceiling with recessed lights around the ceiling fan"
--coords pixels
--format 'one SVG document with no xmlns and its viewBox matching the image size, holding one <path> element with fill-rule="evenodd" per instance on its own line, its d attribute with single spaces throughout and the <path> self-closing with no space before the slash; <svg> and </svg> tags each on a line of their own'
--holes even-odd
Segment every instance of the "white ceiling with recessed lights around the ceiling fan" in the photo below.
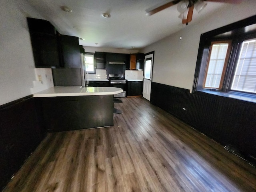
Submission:
<svg viewBox="0 0 256 192">
<path fill-rule="evenodd" d="M 143 48 L 186 28 L 178 18 L 177 5 L 146 16 L 146 10 L 166 0 L 27 0 L 61 34 L 78 36 L 83 46 L 134 49 Z M 68 6 L 71 13 L 61 10 Z M 192 22 L 210 16 L 223 3 L 208 2 L 200 14 L 194 10 Z M 110 18 L 103 18 L 102 13 Z"/>
</svg>

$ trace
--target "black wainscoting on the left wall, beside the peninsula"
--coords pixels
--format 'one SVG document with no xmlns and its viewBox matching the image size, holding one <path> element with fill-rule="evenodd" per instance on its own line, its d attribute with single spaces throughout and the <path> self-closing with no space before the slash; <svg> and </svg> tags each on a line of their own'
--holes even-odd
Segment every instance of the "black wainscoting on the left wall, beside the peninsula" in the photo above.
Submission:
<svg viewBox="0 0 256 192">
<path fill-rule="evenodd" d="M 0 106 L 0 191 L 44 137 L 36 116 L 32 96 Z"/>
</svg>

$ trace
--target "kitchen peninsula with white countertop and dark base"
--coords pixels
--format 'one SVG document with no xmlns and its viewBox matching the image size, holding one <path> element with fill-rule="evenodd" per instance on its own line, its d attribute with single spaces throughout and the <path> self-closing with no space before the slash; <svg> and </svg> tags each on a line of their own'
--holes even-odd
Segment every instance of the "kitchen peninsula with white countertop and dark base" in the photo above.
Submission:
<svg viewBox="0 0 256 192">
<path fill-rule="evenodd" d="M 35 93 L 40 122 L 48 131 L 113 126 L 116 87 L 56 86 Z"/>
</svg>

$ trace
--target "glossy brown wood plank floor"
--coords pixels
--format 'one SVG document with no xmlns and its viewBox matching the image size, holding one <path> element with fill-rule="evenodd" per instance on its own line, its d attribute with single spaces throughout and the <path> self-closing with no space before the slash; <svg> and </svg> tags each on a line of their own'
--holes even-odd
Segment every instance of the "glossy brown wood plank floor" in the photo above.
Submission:
<svg viewBox="0 0 256 192">
<path fill-rule="evenodd" d="M 114 126 L 51 133 L 4 192 L 255 192 L 256 168 L 143 98 Z"/>
</svg>

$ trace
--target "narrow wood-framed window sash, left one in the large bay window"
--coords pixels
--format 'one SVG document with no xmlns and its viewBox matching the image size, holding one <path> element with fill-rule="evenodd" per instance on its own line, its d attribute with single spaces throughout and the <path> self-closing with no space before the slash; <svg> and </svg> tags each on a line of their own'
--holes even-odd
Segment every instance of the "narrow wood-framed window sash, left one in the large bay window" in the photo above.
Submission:
<svg viewBox="0 0 256 192">
<path fill-rule="evenodd" d="M 231 41 L 212 42 L 206 64 L 203 88 L 222 89 Z"/>
</svg>

